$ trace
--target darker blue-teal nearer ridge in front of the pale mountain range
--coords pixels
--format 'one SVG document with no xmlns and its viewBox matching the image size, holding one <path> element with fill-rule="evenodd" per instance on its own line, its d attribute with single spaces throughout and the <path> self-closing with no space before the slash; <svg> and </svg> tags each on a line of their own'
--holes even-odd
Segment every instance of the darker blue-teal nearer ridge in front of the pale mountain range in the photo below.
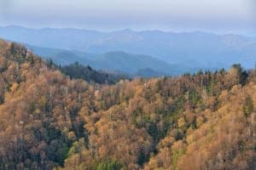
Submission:
<svg viewBox="0 0 256 170">
<path fill-rule="evenodd" d="M 106 54 L 86 54 L 79 51 L 65 49 L 38 48 L 26 45 L 35 54 L 46 59 L 52 59 L 57 65 L 70 65 L 79 62 L 82 65 L 90 65 L 96 70 L 116 71 L 129 76 L 156 77 L 166 75 L 178 75 L 181 73 L 181 65 L 171 65 L 160 59 L 147 55 L 127 54 L 125 52 L 108 52 Z M 189 70 L 186 70 L 189 71 Z"/>
</svg>

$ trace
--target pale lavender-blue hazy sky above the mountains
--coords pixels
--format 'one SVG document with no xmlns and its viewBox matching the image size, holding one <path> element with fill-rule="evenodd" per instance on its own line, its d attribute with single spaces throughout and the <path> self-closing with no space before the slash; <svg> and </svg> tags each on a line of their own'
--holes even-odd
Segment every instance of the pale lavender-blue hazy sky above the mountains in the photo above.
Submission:
<svg viewBox="0 0 256 170">
<path fill-rule="evenodd" d="M 0 0 L 7 25 L 255 33 L 256 0 Z"/>
</svg>

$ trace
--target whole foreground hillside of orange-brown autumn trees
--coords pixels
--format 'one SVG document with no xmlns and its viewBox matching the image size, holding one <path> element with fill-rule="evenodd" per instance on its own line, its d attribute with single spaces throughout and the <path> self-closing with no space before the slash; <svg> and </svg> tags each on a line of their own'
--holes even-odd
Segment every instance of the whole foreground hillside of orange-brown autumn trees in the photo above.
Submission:
<svg viewBox="0 0 256 170">
<path fill-rule="evenodd" d="M 0 42 L 0 169 L 255 169 L 256 71 L 113 85 Z"/>
</svg>

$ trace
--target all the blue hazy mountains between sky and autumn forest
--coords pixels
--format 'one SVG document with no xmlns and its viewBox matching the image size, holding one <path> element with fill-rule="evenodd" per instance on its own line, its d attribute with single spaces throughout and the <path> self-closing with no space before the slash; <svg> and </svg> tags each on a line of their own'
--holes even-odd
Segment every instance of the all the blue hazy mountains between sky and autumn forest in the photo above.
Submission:
<svg viewBox="0 0 256 170">
<path fill-rule="evenodd" d="M 96 69 L 136 74 L 144 71 L 177 75 L 198 69 L 228 68 L 256 61 L 254 37 L 201 31 L 86 31 L 0 27 L 0 37 L 24 42 L 36 54 L 66 65 L 79 61 Z"/>
</svg>

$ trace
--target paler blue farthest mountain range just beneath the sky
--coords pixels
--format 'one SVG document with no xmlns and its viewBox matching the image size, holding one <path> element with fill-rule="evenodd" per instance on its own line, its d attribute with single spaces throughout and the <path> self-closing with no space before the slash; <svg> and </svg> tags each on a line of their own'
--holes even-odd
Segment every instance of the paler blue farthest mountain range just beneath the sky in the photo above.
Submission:
<svg viewBox="0 0 256 170">
<path fill-rule="evenodd" d="M 0 36 L 35 47 L 83 52 L 81 56 L 84 53 L 100 55 L 115 51 L 149 55 L 169 65 L 180 65 L 181 71 L 177 72 L 188 71 L 188 68 L 183 69 L 183 65 L 195 66 L 190 64 L 191 60 L 198 63 L 199 68 L 192 69 L 194 71 L 205 68 L 228 69 L 228 65 L 234 63 L 241 63 L 245 68 L 250 69 L 254 67 L 256 61 L 256 40 L 235 34 L 219 35 L 203 31 L 104 32 L 61 28 L 26 29 L 10 26 L 0 27 Z M 67 57 L 65 59 L 67 60 Z"/>
</svg>

